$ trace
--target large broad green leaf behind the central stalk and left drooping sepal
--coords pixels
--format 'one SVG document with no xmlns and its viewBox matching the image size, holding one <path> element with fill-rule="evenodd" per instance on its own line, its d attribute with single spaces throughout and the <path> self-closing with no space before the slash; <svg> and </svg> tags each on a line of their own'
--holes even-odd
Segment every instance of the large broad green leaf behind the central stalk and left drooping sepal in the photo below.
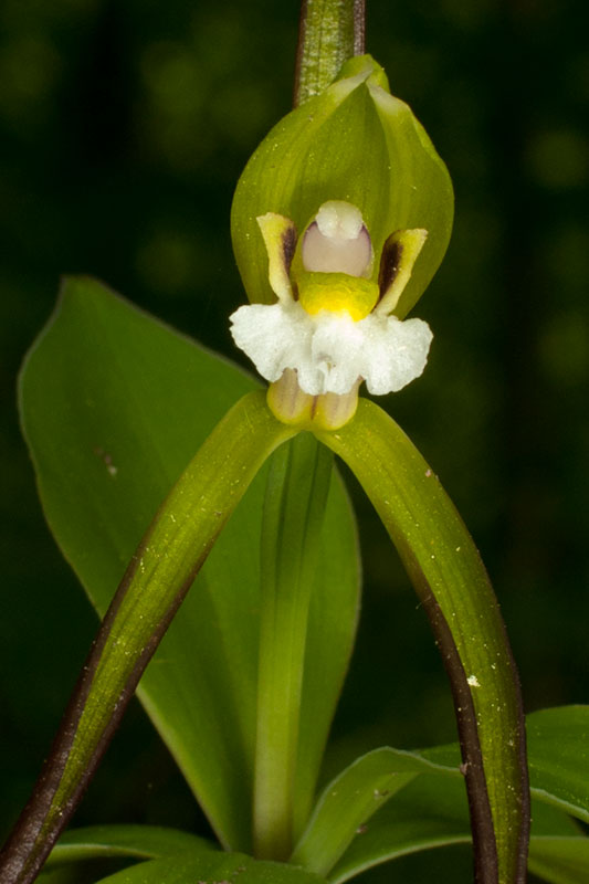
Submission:
<svg viewBox="0 0 589 884">
<path fill-rule="evenodd" d="M 23 371 L 22 418 L 48 520 L 101 614 L 170 485 L 251 389 L 239 369 L 98 283 L 66 283 Z M 264 481 L 254 481 L 224 528 L 139 687 L 219 838 L 243 850 L 251 846 Z M 357 573 L 354 523 L 336 482 L 307 642 L 306 665 L 317 663 L 328 678 L 319 743 L 354 635 Z M 315 713 L 316 699 L 303 704 L 302 728 L 313 729 Z"/>
</svg>

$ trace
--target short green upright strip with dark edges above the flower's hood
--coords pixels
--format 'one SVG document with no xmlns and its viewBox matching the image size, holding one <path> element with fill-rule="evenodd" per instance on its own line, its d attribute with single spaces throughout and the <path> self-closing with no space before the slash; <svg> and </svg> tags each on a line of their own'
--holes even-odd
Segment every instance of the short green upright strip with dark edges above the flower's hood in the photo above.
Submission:
<svg viewBox="0 0 589 884">
<path fill-rule="evenodd" d="M 294 105 L 318 95 L 365 51 L 366 0 L 303 0 Z"/>
</svg>

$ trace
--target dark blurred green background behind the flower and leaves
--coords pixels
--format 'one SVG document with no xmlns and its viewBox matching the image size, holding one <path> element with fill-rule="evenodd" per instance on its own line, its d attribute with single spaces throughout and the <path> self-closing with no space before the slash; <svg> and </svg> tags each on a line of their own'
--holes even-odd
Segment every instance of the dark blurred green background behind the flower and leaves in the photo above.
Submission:
<svg viewBox="0 0 589 884">
<path fill-rule="evenodd" d="M 450 251 L 417 311 L 435 333 L 428 370 L 385 404 L 481 548 L 528 711 L 588 701 L 589 48 L 578 12 L 557 0 L 368 0 L 368 51 L 456 191 Z M 231 196 L 290 109 L 297 18 L 296 0 L 1 6 L 2 832 L 96 625 L 35 499 L 19 364 L 61 273 L 93 274 L 240 360 L 227 323 L 243 301 Z M 351 490 L 366 586 L 334 764 L 455 735 L 425 618 Z M 76 818 L 206 831 L 138 704 Z M 462 851 L 364 881 L 431 880 L 432 862 L 440 880 L 445 863 L 448 880 L 470 880 Z"/>
</svg>

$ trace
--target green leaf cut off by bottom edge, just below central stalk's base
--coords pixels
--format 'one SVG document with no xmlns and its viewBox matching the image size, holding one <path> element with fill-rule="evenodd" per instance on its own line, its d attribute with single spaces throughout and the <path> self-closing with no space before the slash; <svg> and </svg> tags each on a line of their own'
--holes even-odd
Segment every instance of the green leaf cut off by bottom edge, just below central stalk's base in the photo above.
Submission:
<svg viewBox="0 0 589 884">
<path fill-rule="evenodd" d="M 181 855 L 151 860 L 102 878 L 99 884 L 319 884 L 325 878 L 283 863 L 252 860 L 242 853 Z"/>
</svg>

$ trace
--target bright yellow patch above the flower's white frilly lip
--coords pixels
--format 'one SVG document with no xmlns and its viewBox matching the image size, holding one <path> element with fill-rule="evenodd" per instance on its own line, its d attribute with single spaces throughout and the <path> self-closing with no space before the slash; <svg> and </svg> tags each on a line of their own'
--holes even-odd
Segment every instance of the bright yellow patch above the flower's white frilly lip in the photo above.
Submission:
<svg viewBox="0 0 589 884">
<path fill-rule="evenodd" d="M 372 312 L 379 297 L 377 283 L 346 273 L 303 273 L 297 283 L 298 302 L 312 316 L 345 311 L 357 323 Z"/>
</svg>

